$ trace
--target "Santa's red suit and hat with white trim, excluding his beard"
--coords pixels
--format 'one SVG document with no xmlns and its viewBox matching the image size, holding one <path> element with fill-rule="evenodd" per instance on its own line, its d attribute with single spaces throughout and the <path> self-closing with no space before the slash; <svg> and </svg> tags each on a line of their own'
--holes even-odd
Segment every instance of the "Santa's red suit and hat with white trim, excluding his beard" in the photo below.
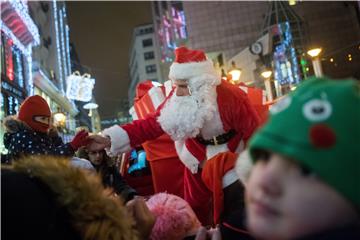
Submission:
<svg viewBox="0 0 360 240">
<path fill-rule="evenodd" d="M 176 139 L 172 136 L 173 132 L 166 130 L 166 119 L 161 119 L 162 110 L 174 92 L 170 93 L 155 113 L 145 119 L 113 126 L 105 129 L 103 134 L 111 138 L 112 153 L 126 152 L 147 140 L 169 134 L 174 139 L 179 159 L 186 166 L 184 198 L 204 223 L 211 209 L 211 193 L 201 179 L 202 163 L 220 152 L 240 153 L 259 125 L 259 117 L 241 89 L 221 82 L 211 60 L 207 60 L 202 51 L 182 47 L 175 53 L 176 60 L 170 67 L 170 79 L 186 79 L 193 92 L 203 85 L 212 89 L 206 98 L 214 98 L 213 114 L 204 120 L 198 136 Z"/>
</svg>

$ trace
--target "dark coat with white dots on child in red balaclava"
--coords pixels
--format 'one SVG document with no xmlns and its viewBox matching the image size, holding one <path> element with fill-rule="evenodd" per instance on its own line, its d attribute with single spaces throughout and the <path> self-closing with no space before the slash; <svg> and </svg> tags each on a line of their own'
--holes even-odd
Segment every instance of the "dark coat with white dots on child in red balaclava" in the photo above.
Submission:
<svg viewBox="0 0 360 240">
<path fill-rule="evenodd" d="M 22 155 L 74 155 L 71 145 L 64 144 L 59 136 L 35 132 L 14 117 L 4 119 L 4 126 L 4 145 L 9 151 L 10 160 L 16 160 Z"/>
</svg>

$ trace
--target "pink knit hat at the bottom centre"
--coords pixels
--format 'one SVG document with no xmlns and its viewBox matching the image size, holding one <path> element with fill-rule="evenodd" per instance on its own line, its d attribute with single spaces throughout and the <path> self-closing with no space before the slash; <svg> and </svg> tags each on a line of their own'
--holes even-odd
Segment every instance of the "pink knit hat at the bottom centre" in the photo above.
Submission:
<svg viewBox="0 0 360 240">
<path fill-rule="evenodd" d="M 190 205 L 178 196 L 158 193 L 146 205 L 156 216 L 150 236 L 152 240 L 181 240 L 195 235 L 201 226 Z"/>
</svg>

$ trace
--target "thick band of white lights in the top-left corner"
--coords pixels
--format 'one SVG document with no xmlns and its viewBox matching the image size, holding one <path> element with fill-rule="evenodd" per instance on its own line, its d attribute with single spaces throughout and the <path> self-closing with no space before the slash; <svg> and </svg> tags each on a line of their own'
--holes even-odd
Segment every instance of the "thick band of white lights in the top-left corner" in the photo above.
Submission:
<svg viewBox="0 0 360 240">
<path fill-rule="evenodd" d="M 29 12 L 28 8 L 24 6 L 24 4 L 26 3 L 23 3 L 22 1 L 14 1 L 14 0 L 5 1 L 5 2 L 11 4 L 13 9 L 16 11 L 17 15 L 19 15 L 23 23 L 26 25 L 27 29 L 29 30 L 29 32 L 31 33 L 34 39 L 33 46 L 40 44 L 39 30 L 37 29 L 35 23 L 31 19 L 28 13 Z"/>
</svg>

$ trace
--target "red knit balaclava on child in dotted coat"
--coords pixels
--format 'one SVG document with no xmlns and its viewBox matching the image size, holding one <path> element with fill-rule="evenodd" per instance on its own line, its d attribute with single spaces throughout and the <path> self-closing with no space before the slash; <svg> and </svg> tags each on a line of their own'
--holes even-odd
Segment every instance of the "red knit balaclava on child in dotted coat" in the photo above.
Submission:
<svg viewBox="0 0 360 240">
<path fill-rule="evenodd" d="M 39 95 L 31 96 L 25 99 L 21 104 L 18 113 L 18 119 L 25 122 L 30 128 L 38 132 L 46 132 L 49 124 L 35 121 L 34 117 L 44 116 L 51 117 L 49 105 Z"/>
</svg>

